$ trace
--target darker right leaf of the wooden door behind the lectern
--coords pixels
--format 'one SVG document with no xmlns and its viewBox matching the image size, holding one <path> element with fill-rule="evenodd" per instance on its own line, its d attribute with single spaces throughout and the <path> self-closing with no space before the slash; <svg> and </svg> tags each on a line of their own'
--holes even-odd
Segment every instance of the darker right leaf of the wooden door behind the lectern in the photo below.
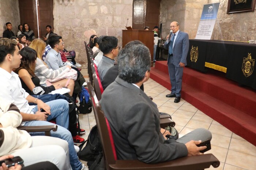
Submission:
<svg viewBox="0 0 256 170">
<path fill-rule="evenodd" d="M 160 0 L 147 0 L 146 23 L 149 30 L 153 30 L 155 26 L 160 26 Z"/>
</svg>

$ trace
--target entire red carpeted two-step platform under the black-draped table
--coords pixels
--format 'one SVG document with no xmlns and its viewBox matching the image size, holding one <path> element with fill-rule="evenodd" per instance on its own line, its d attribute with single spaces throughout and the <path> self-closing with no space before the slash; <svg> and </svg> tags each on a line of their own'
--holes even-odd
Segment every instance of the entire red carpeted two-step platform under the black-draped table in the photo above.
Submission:
<svg viewBox="0 0 256 170">
<path fill-rule="evenodd" d="M 171 88 L 167 61 L 155 62 L 150 78 Z M 225 73 L 206 74 L 184 68 L 181 97 L 256 146 L 256 92 L 225 78 Z"/>
</svg>

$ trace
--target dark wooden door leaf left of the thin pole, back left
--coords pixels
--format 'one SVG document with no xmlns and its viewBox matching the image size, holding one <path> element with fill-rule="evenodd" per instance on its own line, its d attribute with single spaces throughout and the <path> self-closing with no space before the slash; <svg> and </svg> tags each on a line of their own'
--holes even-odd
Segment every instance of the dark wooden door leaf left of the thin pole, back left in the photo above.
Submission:
<svg viewBox="0 0 256 170">
<path fill-rule="evenodd" d="M 27 23 L 38 37 L 35 0 L 19 0 L 20 24 Z"/>
</svg>

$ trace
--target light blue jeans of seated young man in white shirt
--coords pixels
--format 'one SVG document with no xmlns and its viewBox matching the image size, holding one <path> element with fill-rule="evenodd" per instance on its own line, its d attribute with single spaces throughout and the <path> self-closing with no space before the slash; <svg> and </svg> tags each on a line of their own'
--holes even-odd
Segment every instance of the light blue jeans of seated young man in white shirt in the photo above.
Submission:
<svg viewBox="0 0 256 170">
<path fill-rule="evenodd" d="M 82 163 L 78 160 L 78 156 L 76 154 L 74 148 L 73 138 L 71 133 L 67 130 L 68 129 L 68 111 L 69 106 L 68 102 L 63 99 L 53 100 L 46 102 L 51 108 L 51 115 L 48 116 L 47 121 L 27 121 L 24 126 L 43 126 L 43 125 L 54 125 L 48 121 L 52 119 L 56 119 L 56 124 L 58 125 L 57 131 L 51 131 L 51 135 L 56 138 L 60 138 L 66 140 L 68 142 L 69 148 L 69 159 L 70 165 L 73 170 L 80 170 L 82 168 Z M 36 107 L 32 110 L 32 112 L 37 112 L 38 108 Z M 30 133 L 32 136 L 35 135 L 44 135 L 44 132 L 32 132 Z"/>
</svg>

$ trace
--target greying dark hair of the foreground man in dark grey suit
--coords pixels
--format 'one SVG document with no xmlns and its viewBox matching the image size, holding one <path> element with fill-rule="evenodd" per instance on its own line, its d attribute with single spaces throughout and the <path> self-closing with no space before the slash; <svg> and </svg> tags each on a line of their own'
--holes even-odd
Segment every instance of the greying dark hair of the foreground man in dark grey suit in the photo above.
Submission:
<svg viewBox="0 0 256 170">
<path fill-rule="evenodd" d="M 118 53 L 118 76 L 128 83 L 137 83 L 150 70 L 149 49 L 139 42 L 130 42 Z"/>
</svg>

